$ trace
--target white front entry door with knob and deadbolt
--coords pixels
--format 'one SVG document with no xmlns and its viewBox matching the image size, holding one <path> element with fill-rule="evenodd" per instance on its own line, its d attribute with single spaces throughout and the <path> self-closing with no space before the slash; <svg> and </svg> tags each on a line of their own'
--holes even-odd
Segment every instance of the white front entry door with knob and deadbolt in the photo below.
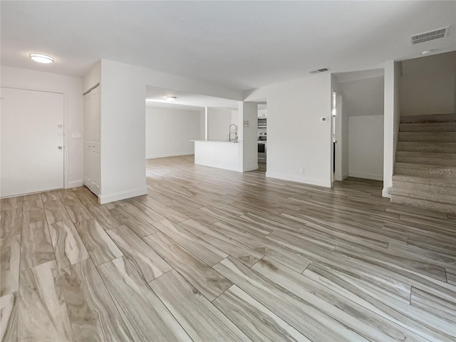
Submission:
<svg viewBox="0 0 456 342">
<path fill-rule="evenodd" d="M 63 188 L 61 93 L 1 88 L 0 196 Z"/>
</svg>

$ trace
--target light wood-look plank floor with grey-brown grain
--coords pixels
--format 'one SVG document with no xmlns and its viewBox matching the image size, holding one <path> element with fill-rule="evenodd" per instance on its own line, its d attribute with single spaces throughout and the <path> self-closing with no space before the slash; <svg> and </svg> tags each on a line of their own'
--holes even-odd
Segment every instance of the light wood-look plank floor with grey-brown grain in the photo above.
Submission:
<svg viewBox="0 0 456 342">
<path fill-rule="evenodd" d="M 1 341 L 456 341 L 456 217 L 147 162 L 149 194 L 1 200 Z"/>
</svg>

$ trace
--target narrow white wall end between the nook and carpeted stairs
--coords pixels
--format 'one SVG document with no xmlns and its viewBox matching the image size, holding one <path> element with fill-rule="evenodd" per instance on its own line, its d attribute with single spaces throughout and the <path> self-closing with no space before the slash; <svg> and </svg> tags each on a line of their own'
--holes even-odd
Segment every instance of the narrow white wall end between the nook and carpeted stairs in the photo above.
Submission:
<svg viewBox="0 0 456 342">
<path fill-rule="evenodd" d="M 383 197 L 391 197 L 393 170 L 400 121 L 400 62 L 385 62 L 385 109 L 383 118 Z"/>
</svg>

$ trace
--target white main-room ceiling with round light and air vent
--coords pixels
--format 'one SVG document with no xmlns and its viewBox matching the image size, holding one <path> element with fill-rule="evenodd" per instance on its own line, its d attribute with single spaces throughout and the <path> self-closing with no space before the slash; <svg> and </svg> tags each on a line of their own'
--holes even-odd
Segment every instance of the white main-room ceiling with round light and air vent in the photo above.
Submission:
<svg viewBox="0 0 456 342">
<path fill-rule="evenodd" d="M 455 1 L 0 1 L 1 63 L 82 76 L 100 58 L 236 90 L 456 50 Z M 410 46 L 410 35 L 451 25 Z M 48 53 L 42 66 L 28 53 Z"/>
</svg>

